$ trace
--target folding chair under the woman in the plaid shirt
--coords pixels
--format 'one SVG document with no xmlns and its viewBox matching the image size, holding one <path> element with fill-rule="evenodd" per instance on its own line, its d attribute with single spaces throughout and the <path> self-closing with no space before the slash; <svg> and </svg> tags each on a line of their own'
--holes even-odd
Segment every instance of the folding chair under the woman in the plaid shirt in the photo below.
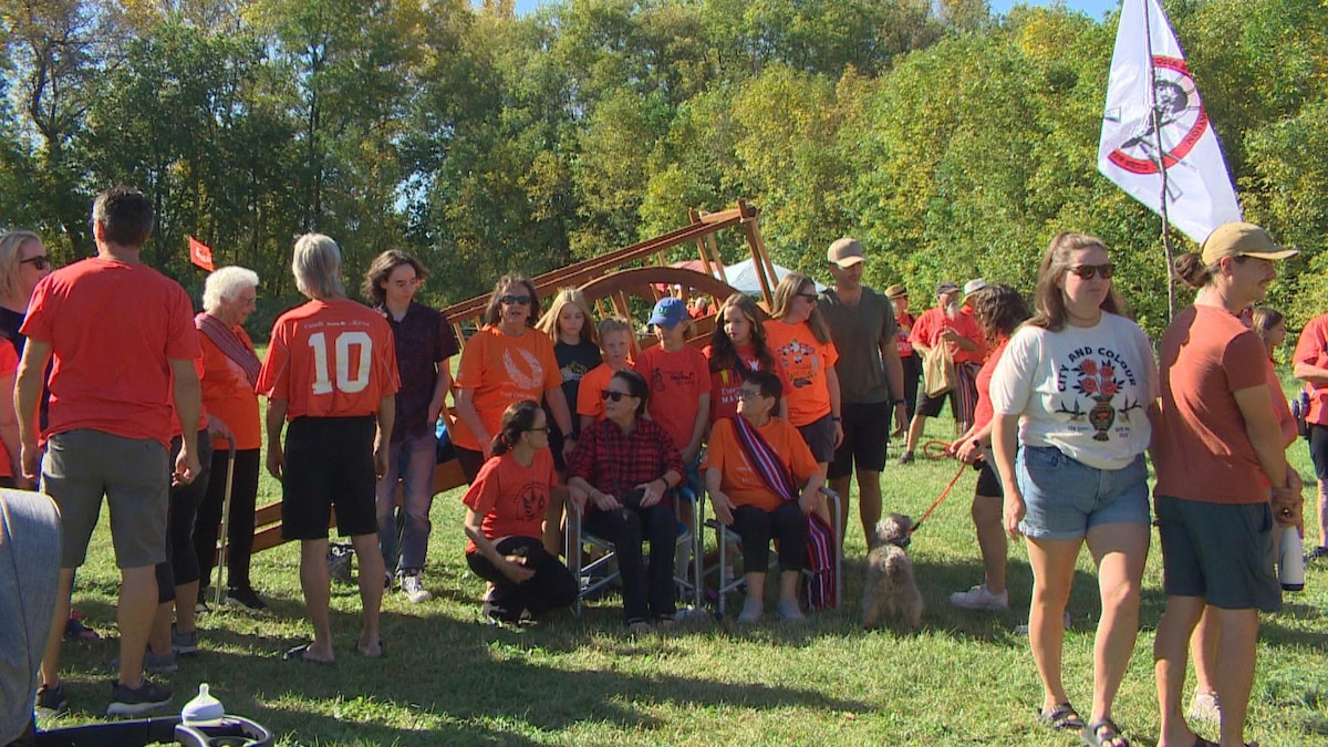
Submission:
<svg viewBox="0 0 1328 747">
<path fill-rule="evenodd" d="M 684 570 L 673 573 L 673 584 L 683 593 L 683 598 L 689 601 L 693 609 L 700 607 L 700 590 L 701 590 L 701 532 L 697 526 L 697 521 L 704 510 L 704 494 L 699 496 L 691 488 L 679 486 L 672 490 L 673 493 L 673 517 L 679 522 L 677 532 L 677 549 L 691 553 L 692 562 L 691 570 Z M 683 501 L 688 501 L 692 505 L 692 525 L 693 529 L 688 529 L 683 522 L 681 505 Z M 567 537 L 566 537 L 566 557 L 567 568 L 572 572 L 576 580 L 580 582 L 580 593 L 576 595 L 576 603 L 572 605 L 572 614 L 580 617 L 582 602 L 584 599 L 592 598 L 602 590 L 608 587 L 608 585 L 619 582 L 620 574 L 618 566 L 614 562 L 616 553 L 614 550 L 614 544 L 603 537 L 596 537 L 586 532 L 582 528 L 582 512 L 568 502 L 567 505 Z M 582 562 L 583 548 L 591 546 L 599 550 L 602 554 L 591 561 L 590 564 Z M 679 562 L 676 564 L 681 568 L 688 568 L 687 565 Z"/>
</svg>

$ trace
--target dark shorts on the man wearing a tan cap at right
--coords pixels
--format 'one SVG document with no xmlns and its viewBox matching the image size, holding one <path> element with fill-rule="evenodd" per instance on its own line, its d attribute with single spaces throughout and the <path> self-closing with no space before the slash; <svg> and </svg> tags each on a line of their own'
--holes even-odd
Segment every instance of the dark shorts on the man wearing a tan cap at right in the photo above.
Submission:
<svg viewBox="0 0 1328 747">
<path fill-rule="evenodd" d="M 1162 590 L 1224 610 L 1282 609 L 1274 572 L 1272 508 L 1157 497 Z"/>
</svg>

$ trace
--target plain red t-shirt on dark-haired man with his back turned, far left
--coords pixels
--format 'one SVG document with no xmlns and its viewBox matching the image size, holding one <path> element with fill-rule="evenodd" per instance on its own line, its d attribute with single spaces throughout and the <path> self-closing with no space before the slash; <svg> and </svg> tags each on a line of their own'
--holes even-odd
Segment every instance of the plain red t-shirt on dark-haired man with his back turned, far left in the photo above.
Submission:
<svg viewBox="0 0 1328 747">
<path fill-rule="evenodd" d="M 37 283 L 23 335 L 52 350 L 42 437 L 89 428 L 170 447 L 170 362 L 201 355 L 179 283 L 146 265 L 74 262 Z"/>
</svg>

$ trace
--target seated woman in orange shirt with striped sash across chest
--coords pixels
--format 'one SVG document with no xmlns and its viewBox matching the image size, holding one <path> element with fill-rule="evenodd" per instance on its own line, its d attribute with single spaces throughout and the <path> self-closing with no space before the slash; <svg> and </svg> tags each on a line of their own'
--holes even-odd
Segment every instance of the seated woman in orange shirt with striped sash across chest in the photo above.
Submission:
<svg viewBox="0 0 1328 747">
<path fill-rule="evenodd" d="M 784 395 L 780 377 L 749 370 L 738 392 L 738 416 L 710 431 L 705 489 L 714 517 L 742 537 L 746 601 L 738 622 L 761 619 L 770 540 L 780 544 L 780 617 L 803 619 L 798 576 L 806 562 L 807 514 L 817 508 L 825 477 L 798 429 L 774 415 Z M 801 492 L 798 486 L 802 486 Z"/>
</svg>

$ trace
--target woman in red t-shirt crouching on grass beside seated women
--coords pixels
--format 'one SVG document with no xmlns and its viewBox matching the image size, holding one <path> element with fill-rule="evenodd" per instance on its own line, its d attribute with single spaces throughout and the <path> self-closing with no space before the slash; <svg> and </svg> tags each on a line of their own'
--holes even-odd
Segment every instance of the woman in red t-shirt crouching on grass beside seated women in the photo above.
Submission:
<svg viewBox="0 0 1328 747">
<path fill-rule="evenodd" d="M 550 498 L 564 502 L 548 451 L 548 416 L 534 400 L 507 405 L 493 456 L 461 500 L 466 505 L 466 565 L 494 585 L 485 614 L 514 623 L 576 601 L 578 584 L 540 540 Z M 559 496 L 563 493 L 563 496 Z"/>
</svg>

